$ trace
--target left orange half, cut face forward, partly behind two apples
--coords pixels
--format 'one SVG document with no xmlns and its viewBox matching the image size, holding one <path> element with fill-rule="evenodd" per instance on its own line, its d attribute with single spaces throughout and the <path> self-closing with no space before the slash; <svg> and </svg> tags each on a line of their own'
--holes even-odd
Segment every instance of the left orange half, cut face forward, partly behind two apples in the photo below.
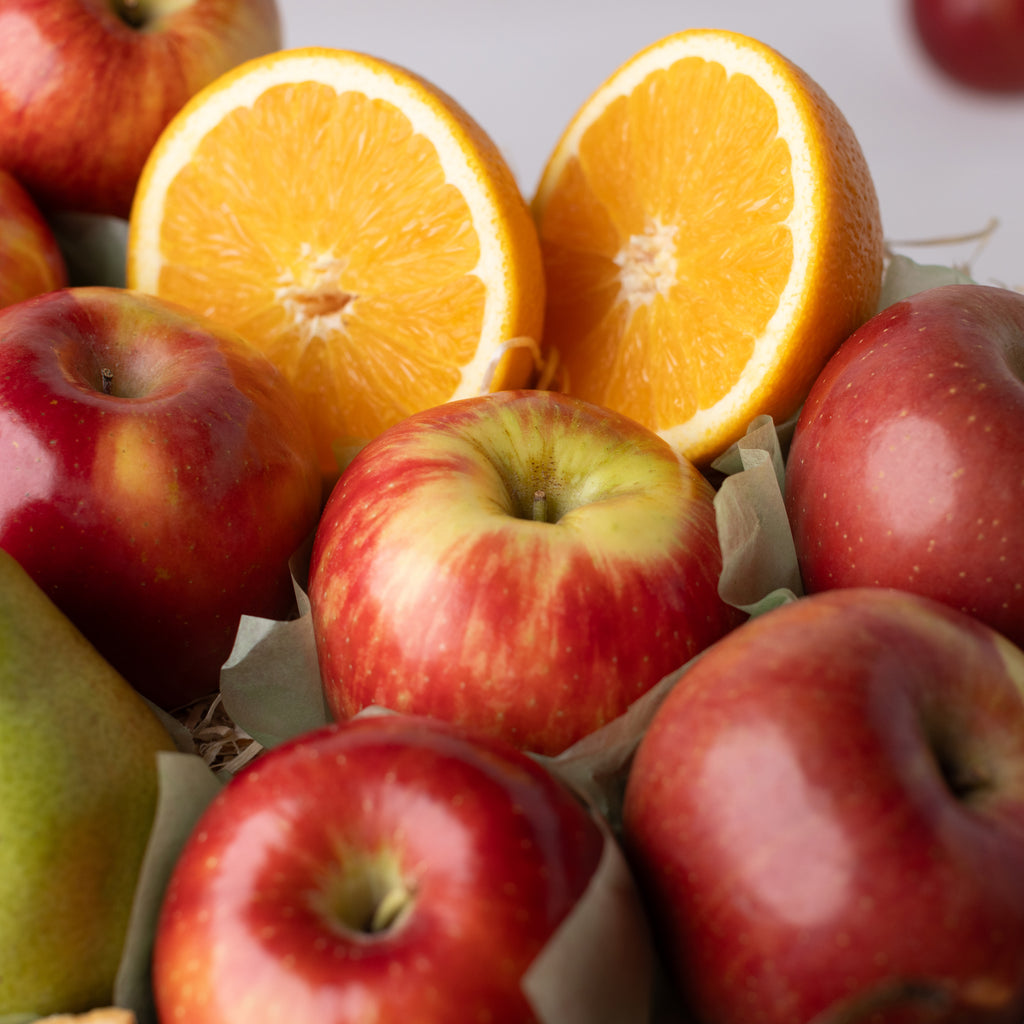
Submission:
<svg viewBox="0 0 1024 1024">
<path fill-rule="evenodd" d="M 543 323 L 537 230 L 494 141 L 412 72 L 327 48 L 250 60 L 171 121 L 127 282 L 265 351 L 327 477 L 411 413 L 527 383 Z"/>
</svg>

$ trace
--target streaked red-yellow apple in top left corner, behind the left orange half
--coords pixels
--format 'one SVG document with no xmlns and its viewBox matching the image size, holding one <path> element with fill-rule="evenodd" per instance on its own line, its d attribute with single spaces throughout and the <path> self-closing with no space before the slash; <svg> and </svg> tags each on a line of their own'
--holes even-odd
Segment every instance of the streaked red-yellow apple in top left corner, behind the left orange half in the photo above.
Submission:
<svg viewBox="0 0 1024 1024">
<path fill-rule="evenodd" d="M 127 217 L 185 100 L 280 46 L 274 0 L 4 0 L 0 165 L 46 212 Z"/>
</svg>

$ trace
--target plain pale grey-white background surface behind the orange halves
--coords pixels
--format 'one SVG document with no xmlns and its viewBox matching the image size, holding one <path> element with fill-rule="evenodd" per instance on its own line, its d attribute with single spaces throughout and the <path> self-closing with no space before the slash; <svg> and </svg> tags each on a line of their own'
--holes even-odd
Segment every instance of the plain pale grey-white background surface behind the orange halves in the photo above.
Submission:
<svg viewBox="0 0 1024 1024">
<path fill-rule="evenodd" d="M 898 247 L 1024 289 L 1024 95 L 967 92 L 926 61 L 905 0 L 279 0 L 285 45 L 338 46 L 430 79 L 502 148 L 528 200 L 562 129 L 623 61 L 727 28 L 807 71 L 853 126 L 893 243 L 998 225 L 981 244 Z"/>
</svg>

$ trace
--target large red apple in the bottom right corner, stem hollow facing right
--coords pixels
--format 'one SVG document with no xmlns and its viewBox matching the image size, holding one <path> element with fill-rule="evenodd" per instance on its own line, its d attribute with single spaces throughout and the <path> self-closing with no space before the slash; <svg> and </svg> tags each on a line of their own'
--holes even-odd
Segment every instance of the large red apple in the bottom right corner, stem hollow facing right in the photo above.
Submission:
<svg viewBox="0 0 1024 1024">
<path fill-rule="evenodd" d="M 1024 652 L 880 588 L 753 618 L 655 713 L 624 842 L 695 1024 L 1020 1024 Z"/>
</svg>

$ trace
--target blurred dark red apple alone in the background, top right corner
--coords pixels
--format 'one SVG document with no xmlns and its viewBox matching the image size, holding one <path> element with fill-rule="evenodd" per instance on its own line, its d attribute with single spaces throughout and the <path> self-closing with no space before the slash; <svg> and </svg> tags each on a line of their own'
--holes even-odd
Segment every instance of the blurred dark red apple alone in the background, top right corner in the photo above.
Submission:
<svg viewBox="0 0 1024 1024">
<path fill-rule="evenodd" d="M 959 85 L 1024 91 L 1024 0 L 911 0 L 929 59 Z"/>
</svg>

